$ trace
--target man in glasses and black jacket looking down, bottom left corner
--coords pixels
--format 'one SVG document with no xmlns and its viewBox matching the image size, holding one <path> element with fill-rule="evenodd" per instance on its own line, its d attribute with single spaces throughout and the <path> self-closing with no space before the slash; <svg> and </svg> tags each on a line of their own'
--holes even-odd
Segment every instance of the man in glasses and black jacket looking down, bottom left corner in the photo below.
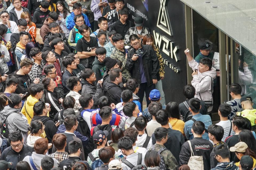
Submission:
<svg viewBox="0 0 256 170">
<path fill-rule="evenodd" d="M 31 156 L 33 148 L 23 143 L 22 134 L 15 131 L 9 134 L 9 141 L 11 146 L 3 150 L 0 160 L 12 162 L 10 170 L 15 170 L 18 162 L 22 161 L 26 156 Z"/>
</svg>

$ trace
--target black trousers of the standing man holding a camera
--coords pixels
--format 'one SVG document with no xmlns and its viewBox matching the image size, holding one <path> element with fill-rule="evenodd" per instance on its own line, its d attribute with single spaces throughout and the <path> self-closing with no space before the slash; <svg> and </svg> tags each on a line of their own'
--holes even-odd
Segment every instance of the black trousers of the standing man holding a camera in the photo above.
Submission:
<svg viewBox="0 0 256 170">
<path fill-rule="evenodd" d="M 147 83 L 141 83 L 140 87 L 139 87 L 139 91 L 137 93 L 137 96 L 140 99 L 140 103 L 141 103 L 141 108 L 142 108 L 142 102 L 143 102 L 143 98 L 144 98 L 144 92 L 146 94 L 146 100 L 147 100 L 147 107 L 150 104 L 150 100 L 149 100 L 149 94 L 151 92 L 151 90 L 155 89 L 155 84 L 150 85 L 149 87 L 147 87 Z"/>
</svg>

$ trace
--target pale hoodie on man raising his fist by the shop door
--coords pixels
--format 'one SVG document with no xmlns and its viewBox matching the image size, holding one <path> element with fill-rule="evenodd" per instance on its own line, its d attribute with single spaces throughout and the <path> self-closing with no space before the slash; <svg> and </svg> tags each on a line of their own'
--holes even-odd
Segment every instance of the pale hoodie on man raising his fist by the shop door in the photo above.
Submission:
<svg viewBox="0 0 256 170">
<path fill-rule="evenodd" d="M 193 70 L 195 70 L 195 69 L 198 69 L 199 63 L 193 59 L 189 62 L 189 66 Z M 213 67 L 211 67 L 210 71 L 206 71 L 204 73 L 200 73 L 198 71 L 198 74 L 193 75 L 193 80 L 191 81 L 191 84 L 193 87 L 195 87 L 195 92 L 196 92 L 195 98 L 198 98 L 199 100 L 201 100 L 198 94 L 200 93 L 203 101 L 209 101 L 209 100 L 213 101 L 211 83 L 213 83 L 213 79 L 216 78 L 216 75 L 217 75 L 216 69 Z M 208 112 L 210 112 L 211 110 L 212 110 L 212 107 L 208 109 Z"/>
</svg>

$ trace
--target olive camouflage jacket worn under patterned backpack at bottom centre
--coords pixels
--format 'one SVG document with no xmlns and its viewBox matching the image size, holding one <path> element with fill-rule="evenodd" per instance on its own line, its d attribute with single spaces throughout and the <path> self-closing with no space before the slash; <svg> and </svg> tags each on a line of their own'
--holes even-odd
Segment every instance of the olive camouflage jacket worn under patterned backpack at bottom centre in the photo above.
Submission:
<svg viewBox="0 0 256 170">
<path fill-rule="evenodd" d="M 165 147 L 165 146 L 159 145 L 159 144 L 156 143 L 155 144 L 155 151 L 158 152 L 163 147 Z M 149 150 L 151 150 L 151 148 Z M 175 157 L 173 156 L 173 154 L 171 153 L 171 151 L 164 150 L 164 151 L 161 152 L 161 156 L 163 157 L 163 160 L 165 162 L 166 169 L 169 169 L 169 170 L 178 169 L 178 163 L 177 163 Z"/>
</svg>

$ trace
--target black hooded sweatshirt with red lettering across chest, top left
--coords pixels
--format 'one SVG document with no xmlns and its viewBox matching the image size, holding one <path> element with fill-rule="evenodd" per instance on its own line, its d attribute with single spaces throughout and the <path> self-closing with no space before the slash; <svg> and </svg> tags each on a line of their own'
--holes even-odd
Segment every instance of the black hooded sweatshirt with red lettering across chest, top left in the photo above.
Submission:
<svg viewBox="0 0 256 170">
<path fill-rule="evenodd" d="M 33 0 L 31 0 L 31 1 L 33 1 Z M 48 17 L 49 13 L 50 13 L 49 10 L 47 10 L 46 12 L 43 12 L 38 7 L 34 12 L 32 22 L 35 23 L 37 28 L 41 28 L 43 26 L 45 19 Z"/>
</svg>

